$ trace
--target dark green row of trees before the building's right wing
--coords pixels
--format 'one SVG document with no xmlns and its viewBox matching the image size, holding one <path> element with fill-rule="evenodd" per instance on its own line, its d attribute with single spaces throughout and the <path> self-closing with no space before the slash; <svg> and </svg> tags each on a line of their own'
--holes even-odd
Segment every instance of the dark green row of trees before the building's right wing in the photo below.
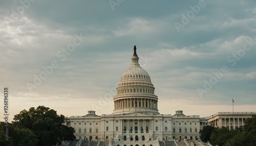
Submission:
<svg viewBox="0 0 256 146">
<path fill-rule="evenodd" d="M 205 126 L 200 130 L 202 141 L 209 141 L 219 146 L 254 146 L 256 145 L 256 116 L 247 118 L 244 126 L 229 130 L 226 127 L 214 128 Z"/>
</svg>

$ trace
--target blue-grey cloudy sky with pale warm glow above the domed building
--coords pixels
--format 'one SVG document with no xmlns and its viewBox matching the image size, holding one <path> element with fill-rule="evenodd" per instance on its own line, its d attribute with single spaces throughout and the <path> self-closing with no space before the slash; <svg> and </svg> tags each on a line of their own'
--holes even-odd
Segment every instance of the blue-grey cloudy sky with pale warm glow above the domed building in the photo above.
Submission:
<svg viewBox="0 0 256 146">
<path fill-rule="evenodd" d="M 134 45 L 160 113 L 231 112 L 232 99 L 235 112 L 256 111 L 255 4 L 1 1 L 0 95 L 8 87 L 10 120 L 40 105 L 111 114 Z"/>
</svg>

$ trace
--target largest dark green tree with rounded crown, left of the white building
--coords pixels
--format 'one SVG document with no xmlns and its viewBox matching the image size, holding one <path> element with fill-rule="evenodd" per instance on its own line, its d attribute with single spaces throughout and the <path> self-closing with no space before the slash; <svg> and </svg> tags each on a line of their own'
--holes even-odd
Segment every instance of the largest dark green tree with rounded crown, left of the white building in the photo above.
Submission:
<svg viewBox="0 0 256 146">
<path fill-rule="evenodd" d="M 18 128 L 24 129 L 21 132 L 28 132 L 26 129 L 29 129 L 37 136 L 37 145 L 54 145 L 61 142 L 58 139 L 75 139 L 74 128 L 62 125 L 65 116 L 58 115 L 55 110 L 45 106 L 22 110 L 13 119 Z"/>
</svg>

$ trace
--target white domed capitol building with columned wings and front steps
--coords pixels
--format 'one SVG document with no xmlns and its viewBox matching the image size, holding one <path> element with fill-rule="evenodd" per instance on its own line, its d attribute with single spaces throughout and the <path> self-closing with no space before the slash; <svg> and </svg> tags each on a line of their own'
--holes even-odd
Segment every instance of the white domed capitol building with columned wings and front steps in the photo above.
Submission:
<svg viewBox="0 0 256 146">
<path fill-rule="evenodd" d="M 218 115 L 207 118 L 185 115 L 182 110 L 174 115 L 160 114 L 155 87 L 150 75 L 140 67 L 136 46 L 132 63 L 121 75 L 116 91 L 112 114 L 88 111 L 83 116 L 67 117 L 66 125 L 75 129 L 76 139 L 108 141 L 113 146 L 159 145 L 159 141 L 197 140 L 200 129 L 206 125 L 240 127 L 245 119 L 243 114 L 230 120 L 232 117 L 227 114 L 225 119 Z M 250 116 L 246 114 L 246 118 Z M 231 121 L 238 125 L 230 125 Z"/>
</svg>

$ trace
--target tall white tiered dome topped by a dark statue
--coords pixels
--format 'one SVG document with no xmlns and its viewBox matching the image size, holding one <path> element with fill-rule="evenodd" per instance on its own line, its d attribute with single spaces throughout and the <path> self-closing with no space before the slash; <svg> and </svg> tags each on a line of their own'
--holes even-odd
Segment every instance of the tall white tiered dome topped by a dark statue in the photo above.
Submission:
<svg viewBox="0 0 256 146">
<path fill-rule="evenodd" d="M 155 87 L 150 75 L 140 67 L 136 46 L 134 46 L 132 64 L 123 72 L 116 90 L 113 114 L 131 112 L 159 114 L 158 98 L 154 94 Z"/>
</svg>

